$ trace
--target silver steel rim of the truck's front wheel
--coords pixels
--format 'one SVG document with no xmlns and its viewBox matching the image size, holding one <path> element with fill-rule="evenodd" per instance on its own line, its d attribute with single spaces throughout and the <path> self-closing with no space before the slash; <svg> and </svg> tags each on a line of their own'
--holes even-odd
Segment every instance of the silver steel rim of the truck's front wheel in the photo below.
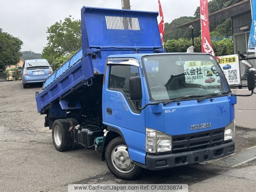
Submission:
<svg viewBox="0 0 256 192">
<path fill-rule="evenodd" d="M 122 173 L 128 173 L 135 167 L 130 160 L 128 148 L 125 145 L 118 145 L 112 150 L 111 162 L 114 168 Z"/>
</svg>

